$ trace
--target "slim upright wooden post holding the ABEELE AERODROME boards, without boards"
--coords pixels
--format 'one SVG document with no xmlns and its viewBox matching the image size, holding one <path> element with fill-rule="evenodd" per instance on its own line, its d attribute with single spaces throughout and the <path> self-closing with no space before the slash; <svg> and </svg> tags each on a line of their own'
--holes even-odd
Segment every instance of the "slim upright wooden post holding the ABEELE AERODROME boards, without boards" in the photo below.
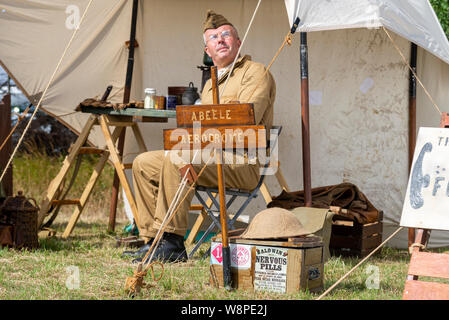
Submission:
<svg viewBox="0 0 449 320">
<path fill-rule="evenodd" d="M 212 97 L 214 104 L 220 104 L 220 95 L 218 93 L 218 76 L 217 67 L 211 67 L 212 80 Z M 226 290 L 232 287 L 231 278 L 231 250 L 229 248 L 228 240 L 228 215 L 226 213 L 226 193 L 225 180 L 223 173 L 223 149 L 218 147 L 215 149 L 217 157 L 217 177 L 218 177 L 218 196 L 220 199 L 220 223 L 221 223 L 221 238 L 222 238 L 222 257 L 223 257 L 223 286 Z"/>
</svg>

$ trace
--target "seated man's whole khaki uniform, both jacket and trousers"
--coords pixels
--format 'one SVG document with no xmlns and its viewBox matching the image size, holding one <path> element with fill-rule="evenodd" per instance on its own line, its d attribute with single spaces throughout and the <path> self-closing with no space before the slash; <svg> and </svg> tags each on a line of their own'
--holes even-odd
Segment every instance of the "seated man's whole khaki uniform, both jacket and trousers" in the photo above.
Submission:
<svg viewBox="0 0 449 320">
<path fill-rule="evenodd" d="M 252 62 L 249 56 L 240 58 L 230 77 L 226 91 L 221 97 L 221 103 L 239 101 L 241 103 L 254 103 L 256 123 L 271 128 L 273 122 L 273 104 L 275 98 L 275 83 L 270 73 L 263 78 L 265 67 Z M 227 71 L 219 79 L 219 88 L 222 90 Z M 262 79 L 262 80 L 261 80 Z M 260 82 L 260 83 L 259 83 Z M 254 88 L 249 101 L 249 97 Z M 202 92 L 202 103 L 212 104 L 212 88 L 209 80 Z M 171 153 L 163 150 L 150 151 L 140 154 L 133 162 L 133 182 L 136 197 L 139 225 L 139 233 L 144 239 L 153 238 L 161 227 L 166 213 L 175 198 L 176 191 L 182 177 L 179 169 L 185 163 L 174 163 Z M 194 165 L 198 173 L 204 163 Z M 248 164 L 223 165 L 226 188 L 239 188 L 243 190 L 254 189 L 260 179 L 259 166 Z M 198 179 L 198 185 L 206 187 L 217 186 L 217 167 L 208 165 Z M 181 194 L 183 199 L 187 193 L 188 185 Z M 188 227 L 188 212 L 194 192 L 187 195 L 185 201 L 180 204 L 179 210 L 173 220 L 168 224 L 166 232 L 184 236 Z"/>
</svg>

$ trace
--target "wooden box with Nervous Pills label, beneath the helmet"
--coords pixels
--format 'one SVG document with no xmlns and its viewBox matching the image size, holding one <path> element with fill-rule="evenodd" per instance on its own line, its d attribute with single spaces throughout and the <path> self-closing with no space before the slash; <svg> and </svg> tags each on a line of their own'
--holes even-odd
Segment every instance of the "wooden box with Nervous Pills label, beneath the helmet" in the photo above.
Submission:
<svg viewBox="0 0 449 320">
<path fill-rule="evenodd" d="M 281 241 L 230 239 L 232 287 L 294 293 L 323 290 L 324 252 L 319 237 Z M 221 238 L 211 244 L 210 283 L 223 287 Z"/>
</svg>

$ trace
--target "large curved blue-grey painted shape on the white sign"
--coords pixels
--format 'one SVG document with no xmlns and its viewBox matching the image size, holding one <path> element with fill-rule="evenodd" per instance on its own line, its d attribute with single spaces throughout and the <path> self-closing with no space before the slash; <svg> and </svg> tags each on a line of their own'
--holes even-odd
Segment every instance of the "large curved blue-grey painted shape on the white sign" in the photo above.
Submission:
<svg viewBox="0 0 449 320">
<path fill-rule="evenodd" d="M 428 142 L 422 147 L 418 159 L 416 159 L 415 165 L 413 166 L 413 172 L 410 180 L 410 205 L 413 209 L 419 209 L 424 205 L 424 199 L 421 191 L 423 188 L 427 188 L 429 186 L 430 176 L 428 174 L 423 175 L 422 164 L 425 154 L 430 151 L 432 151 L 432 144 Z"/>
</svg>

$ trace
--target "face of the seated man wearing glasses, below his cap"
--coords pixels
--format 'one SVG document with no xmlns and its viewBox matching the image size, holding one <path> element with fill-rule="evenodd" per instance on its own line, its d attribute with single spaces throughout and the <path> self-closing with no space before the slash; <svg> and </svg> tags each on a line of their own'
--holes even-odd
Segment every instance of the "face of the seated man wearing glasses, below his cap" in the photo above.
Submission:
<svg viewBox="0 0 449 320">
<path fill-rule="evenodd" d="M 241 41 L 233 27 L 224 25 L 217 29 L 208 29 L 204 36 L 205 51 L 218 68 L 226 67 L 234 61 Z"/>
</svg>

